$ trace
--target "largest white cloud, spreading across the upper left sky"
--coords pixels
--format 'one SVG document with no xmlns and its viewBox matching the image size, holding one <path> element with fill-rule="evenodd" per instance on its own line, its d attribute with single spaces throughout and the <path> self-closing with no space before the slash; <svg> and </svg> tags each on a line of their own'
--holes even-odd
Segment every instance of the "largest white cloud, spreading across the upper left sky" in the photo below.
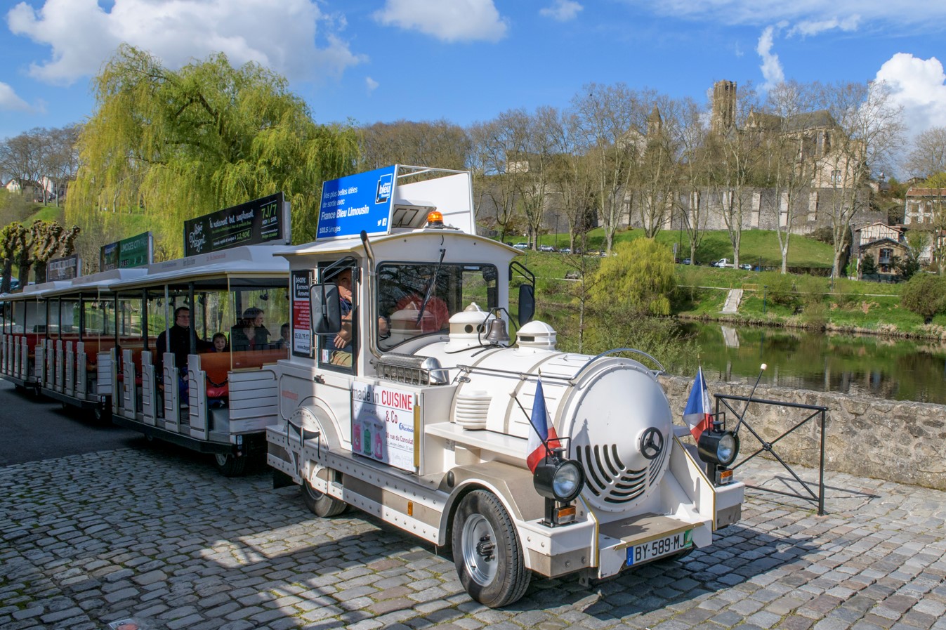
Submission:
<svg viewBox="0 0 946 630">
<path fill-rule="evenodd" d="M 122 42 L 171 68 L 223 52 L 235 65 L 256 61 L 289 79 L 338 75 L 365 61 L 332 32 L 343 19 L 325 15 L 316 0 L 114 0 L 111 11 L 97 0 L 45 0 L 41 9 L 18 4 L 7 20 L 15 35 L 50 46 L 50 58 L 29 68 L 48 83 L 96 74 Z"/>
</svg>

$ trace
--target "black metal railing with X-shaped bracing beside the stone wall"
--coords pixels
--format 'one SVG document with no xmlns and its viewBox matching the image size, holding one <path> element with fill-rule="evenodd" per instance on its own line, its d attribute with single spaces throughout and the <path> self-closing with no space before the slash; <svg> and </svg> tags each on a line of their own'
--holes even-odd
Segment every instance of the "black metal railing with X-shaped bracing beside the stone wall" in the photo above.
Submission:
<svg viewBox="0 0 946 630">
<path fill-rule="evenodd" d="M 775 400 L 762 400 L 759 398 L 749 398 L 746 396 L 731 396 L 727 394 L 714 394 L 714 395 L 716 398 L 717 417 L 719 413 L 725 413 L 726 412 L 725 410 L 730 411 L 734 416 L 736 416 L 739 419 L 739 422 L 736 425 L 736 429 L 745 427 L 745 430 L 751 433 L 752 436 L 755 437 L 755 439 L 759 442 L 759 445 L 760 445 L 759 448 L 755 452 L 746 456 L 745 459 L 742 459 L 742 461 L 739 462 L 739 464 L 733 465 L 732 469 L 735 470 L 739 468 L 743 464 L 746 464 L 747 462 L 761 455 L 762 453 L 768 453 L 769 455 L 772 456 L 772 458 L 774 458 L 777 462 L 779 462 L 779 464 L 781 464 L 785 468 L 785 470 L 788 471 L 788 473 L 795 479 L 795 481 L 797 481 L 801 485 L 802 488 L 804 488 L 805 494 L 802 494 L 800 491 L 798 493 L 783 492 L 780 490 L 773 490 L 771 488 L 763 488 L 761 486 L 749 485 L 748 483 L 746 483 L 746 487 L 754 488 L 756 490 L 763 490 L 765 492 L 772 492 L 772 493 L 783 495 L 786 497 L 795 497 L 797 499 L 810 501 L 817 505 L 818 516 L 824 516 L 825 515 L 825 421 L 827 419 L 828 408 L 821 407 L 819 405 L 802 405 L 800 403 L 780 402 L 780 401 L 775 401 Z M 746 405 L 743 411 L 739 412 L 732 408 L 730 401 L 740 401 L 740 402 L 746 403 Z M 792 426 L 790 429 L 785 430 L 779 437 L 775 438 L 774 440 L 769 441 L 769 440 L 763 439 L 762 435 L 760 435 L 759 432 L 756 429 L 754 429 L 752 425 L 745 419 L 745 411 L 748 410 L 747 403 L 749 402 L 757 403 L 760 405 L 776 405 L 779 407 L 787 407 L 791 409 L 811 411 L 811 412 L 804 419 L 800 420 L 799 422 L 797 422 L 797 424 Z M 792 468 L 792 466 L 789 465 L 787 462 L 785 462 L 785 460 L 780 456 L 780 454 L 775 448 L 775 446 L 777 446 L 785 437 L 792 434 L 798 428 L 804 426 L 805 424 L 811 422 L 812 420 L 815 420 L 815 418 L 818 418 L 818 424 L 820 427 L 819 429 L 820 458 L 818 462 L 818 484 L 817 484 L 816 493 L 815 493 L 815 490 L 812 488 L 812 484 L 798 477 L 797 473 Z M 745 452 L 745 447 L 747 446 L 745 445 L 745 440 L 743 440 L 743 443 L 744 444 L 742 444 L 741 446 Z"/>
</svg>

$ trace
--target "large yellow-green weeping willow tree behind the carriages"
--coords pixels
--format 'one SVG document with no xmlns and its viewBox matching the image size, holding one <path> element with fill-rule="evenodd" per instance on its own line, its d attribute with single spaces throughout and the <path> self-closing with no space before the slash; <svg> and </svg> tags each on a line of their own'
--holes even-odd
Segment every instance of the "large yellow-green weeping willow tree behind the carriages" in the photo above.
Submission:
<svg viewBox="0 0 946 630">
<path fill-rule="evenodd" d="M 358 160 L 354 129 L 317 125 L 287 80 L 256 63 L 235 68 L 219 54 L 172 71 L 123 44 L 93 88 L 66 203 L 87 260 L 144 230 L 156 251 L 180 256 L 184 219 L 278 191 L 293 241 L 311 240 L 322 182 Z"/>
</svg>

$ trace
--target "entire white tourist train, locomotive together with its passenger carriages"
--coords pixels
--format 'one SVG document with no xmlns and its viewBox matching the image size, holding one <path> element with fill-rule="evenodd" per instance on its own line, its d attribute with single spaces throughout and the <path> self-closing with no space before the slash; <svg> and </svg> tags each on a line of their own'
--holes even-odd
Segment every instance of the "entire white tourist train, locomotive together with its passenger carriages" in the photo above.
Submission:
<svg viewBox="0 0 946 630">
<path fill-rule="evenodd" d="M 2 376 L 228 475 L 265 453 L 317 516 L 354 506 L 451 547 L 488 606 L 533 573 L 587 584 L 739 520 L 738 438 L 713 422 L 692 440 L 651 357 L 557 350 L 522 253 L 476 234 L 469 173 L 327 182 L 318 234 L 4 295 Z M 186 356 L 159 355 L 182 306 Z"/>
</svg>

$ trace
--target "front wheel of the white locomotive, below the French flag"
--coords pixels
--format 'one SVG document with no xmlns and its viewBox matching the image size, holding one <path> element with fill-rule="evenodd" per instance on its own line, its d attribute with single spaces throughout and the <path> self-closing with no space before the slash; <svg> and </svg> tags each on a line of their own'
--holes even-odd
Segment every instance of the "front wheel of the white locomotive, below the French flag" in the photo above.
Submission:
<svg viewBox="0 0 946 630">
<path fill-rule="evenodd" d="M 499 608 L 525 595 L 532 574 L 516 527 L 496 495 L 474 490 L 461 499 L 450 540 L 460 582 L 474 600 Z"/>
</svg>

